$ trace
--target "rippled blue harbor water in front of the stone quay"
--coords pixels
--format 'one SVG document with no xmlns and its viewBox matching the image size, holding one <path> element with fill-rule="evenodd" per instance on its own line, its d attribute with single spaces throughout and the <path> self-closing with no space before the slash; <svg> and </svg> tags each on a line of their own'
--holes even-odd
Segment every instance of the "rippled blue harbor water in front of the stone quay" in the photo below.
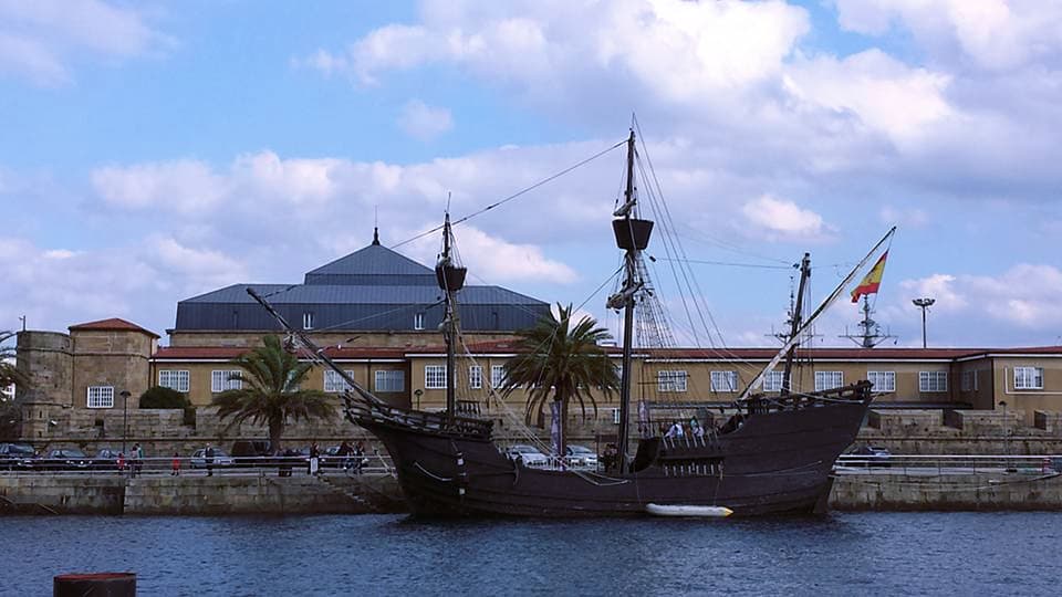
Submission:
<svg viewBox="0 0 1062 597">
<path fill-rule="evenodd" d="M 1058 595 L 1058 513 L 419 522 L 0 517 L 0 595 L 135 572 L 140 595 Z"/>
</svg>

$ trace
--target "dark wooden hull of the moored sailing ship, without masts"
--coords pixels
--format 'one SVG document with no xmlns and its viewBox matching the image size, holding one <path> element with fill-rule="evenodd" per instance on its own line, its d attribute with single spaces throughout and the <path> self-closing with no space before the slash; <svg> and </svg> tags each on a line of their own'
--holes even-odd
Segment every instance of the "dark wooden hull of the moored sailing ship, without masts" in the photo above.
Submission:
<svg viewBox="0 0 1062 597">
<path fill-rule="evenodd" d="M 486 421 L 379 404 L 352 418 L 387 448 L 416 515 L 631 516 L 657 504 L 750 516 L 825 507 L 833 463 L 855 439 L 870 385 L 833 396 L 804 397 L 792 408 L 753 401 L 704 438 L 643 439 L 629 470 L 608 474 L 524 467 L 491 441 Z"/>
</svg>

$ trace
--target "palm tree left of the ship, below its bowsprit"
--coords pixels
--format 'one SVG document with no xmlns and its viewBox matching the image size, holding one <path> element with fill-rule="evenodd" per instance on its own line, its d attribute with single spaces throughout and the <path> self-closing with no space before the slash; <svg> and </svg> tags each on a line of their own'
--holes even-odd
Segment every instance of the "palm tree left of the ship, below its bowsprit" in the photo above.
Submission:
<svg viewBox="0 0 1062 597">
<path fill-rule="evenodd" d="M 330 419 L 335 416 L 335 405 L 323 391 L 300 389 L 311 364 L 299 363 L 299 357 L 285 350 L 277 336 L 262 341 L 264 346 L 232 360 L 242 371 L 230 379 L 239 380 L 242 387 L 222 391 L 214 398 L 214 405 L 221 420 L 232 418 L 231 425 L 249 420 L 269 428 L 270 447 L 275 451 L 285 425 L 302 419 Z"/>
</svg>

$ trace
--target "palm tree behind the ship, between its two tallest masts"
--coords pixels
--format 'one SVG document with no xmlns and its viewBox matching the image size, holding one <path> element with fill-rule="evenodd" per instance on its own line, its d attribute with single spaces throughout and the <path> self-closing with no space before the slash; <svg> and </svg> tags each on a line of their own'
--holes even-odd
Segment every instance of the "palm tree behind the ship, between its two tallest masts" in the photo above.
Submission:
<svg viewBox="0 0 1062 597">
<path fill-rule="evenodd" d="M 528 425 L 532 418 L 542 420 L 550 398 L 559 402 L 561 455 L 566 447 L 564 426 L 569 404 L 576 400 L 585 418 L 586 402 L 597 410 L 591 389 L 600 387 L 608 396 L 620 387 L 620 378 L 601 347 L 612 335 L 590 316 L 583 316 L 573 327 L 571 304 L 564 307 L 558 303 L 556 311 L 558 316 L 551 311 L 534 327 L 518 333 L 519 356 L 506 364 L 502 385 L 506 396 L 520 386 L 529 388 L 524 411 Z"/>
</svg>

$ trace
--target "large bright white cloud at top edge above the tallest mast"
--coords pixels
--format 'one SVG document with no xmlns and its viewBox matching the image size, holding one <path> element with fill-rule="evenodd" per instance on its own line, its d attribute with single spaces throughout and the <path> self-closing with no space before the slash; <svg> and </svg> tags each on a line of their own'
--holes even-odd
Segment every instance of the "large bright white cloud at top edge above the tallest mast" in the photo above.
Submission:
<svg viewBox="0 0 1062 597">
<path fill-rule="evenodd" d="M 546 98 L 589 71 L 629 73 L 675 102 L 763 80 L 809 30 L 802 9 L 780 1 L 426 2 L 423 23 L 388 24 L 340 54 L 302 61 L 363 84 L 382 73 L 452 63 Z"/>
</svg>

